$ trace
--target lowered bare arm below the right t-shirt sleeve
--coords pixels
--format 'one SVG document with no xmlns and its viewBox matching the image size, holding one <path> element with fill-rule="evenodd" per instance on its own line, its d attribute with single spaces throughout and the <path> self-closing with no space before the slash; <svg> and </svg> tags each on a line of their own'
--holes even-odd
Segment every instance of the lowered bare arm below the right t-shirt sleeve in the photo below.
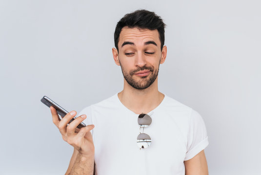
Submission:
<svg viewBox="0 0 261 175">
<path fill-rule="evenodd" d="M 207 160 L 202 150 L 195 157 L 184 161 L 185 175 L 208 175 Z"/>
</svg>

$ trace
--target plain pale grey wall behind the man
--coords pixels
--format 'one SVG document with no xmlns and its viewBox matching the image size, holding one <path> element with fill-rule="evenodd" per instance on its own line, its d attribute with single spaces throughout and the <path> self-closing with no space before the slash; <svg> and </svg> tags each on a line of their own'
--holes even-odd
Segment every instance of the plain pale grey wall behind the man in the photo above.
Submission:
<svg viewBox="0 0 261 175">
<path fill-rule="evenodd" d="M 0 174 L 64 174 L 73 148 L 40 103 L 80 110 L 123 88 L 120 18 L 167 24 L 159 89 L 197 110 L 210 175 L 260 175 L 261 3 L 256 0 L 0 0 Z"/>
</svg>

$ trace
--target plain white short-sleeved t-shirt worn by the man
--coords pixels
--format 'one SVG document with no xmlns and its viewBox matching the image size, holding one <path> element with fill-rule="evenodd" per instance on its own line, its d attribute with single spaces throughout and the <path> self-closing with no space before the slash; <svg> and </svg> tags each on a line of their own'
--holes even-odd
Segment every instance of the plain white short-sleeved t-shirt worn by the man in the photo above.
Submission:
<svg viewBox="0 0 261 175">
<path fill-rule="evenodd" d="M 152 123 L 143 133 L 152 142 L 141 150 L 139 115 L 125 107 L 118 94 L 84 108 L 81 114 L 87 115 L 83 123 L 95 125 L 91 133 L 96 175 L 185 175 L 183 161 L 208 145 L 201 115 L 166 95 L 147 113 Z"/>
</svg>

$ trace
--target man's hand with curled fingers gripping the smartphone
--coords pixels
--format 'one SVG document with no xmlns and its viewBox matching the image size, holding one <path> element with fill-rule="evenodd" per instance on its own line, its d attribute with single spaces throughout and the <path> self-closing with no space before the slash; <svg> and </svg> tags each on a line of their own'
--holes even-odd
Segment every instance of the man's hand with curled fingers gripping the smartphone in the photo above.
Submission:
<svg viewBox="0 0 261 175">
<path fill-rule="evenodd" d="M 76 111 L 69 112 L 60 120 L 56 109 L 53 106 L 51 106 L 50 109 L 53 116 L 53 123 L 59 128 L 62 139 L 72 145 L 79 152 L 81 157 L 94 156 L 94 144 L 90 132 L 90 130 L 94 128 L 94 125 L 91 124 L 80 129 L 77 128 L 86 118 L 86 115 L 83 114 L 68 124 L 70 120 L 76 116 Z"/>
</svg>

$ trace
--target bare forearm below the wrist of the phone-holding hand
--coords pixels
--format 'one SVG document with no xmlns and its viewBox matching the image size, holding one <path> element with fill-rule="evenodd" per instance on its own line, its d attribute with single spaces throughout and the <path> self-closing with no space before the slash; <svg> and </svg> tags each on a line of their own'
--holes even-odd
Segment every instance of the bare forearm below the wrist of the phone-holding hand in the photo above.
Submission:
<svg viewBox="0 0 261 175">
<path fill-rule="evenodd" d="M 69 175 L 93 175 L 93 168 L 94 156 L 83 157 L 79 153 Z"/>
</svg>

